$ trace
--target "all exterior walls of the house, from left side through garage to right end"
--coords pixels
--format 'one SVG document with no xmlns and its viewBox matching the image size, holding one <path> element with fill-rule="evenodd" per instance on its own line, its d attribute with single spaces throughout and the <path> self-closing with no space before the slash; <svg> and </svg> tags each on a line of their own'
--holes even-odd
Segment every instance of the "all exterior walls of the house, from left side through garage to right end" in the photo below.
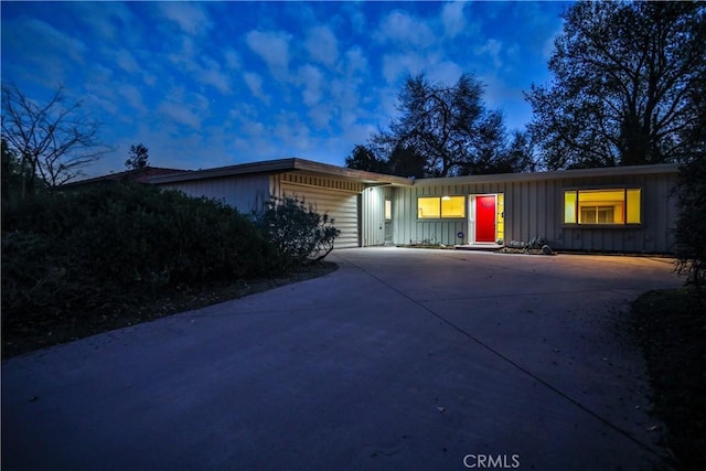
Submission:
<svg viewBox="0 0 706 471">
<path fill-rule="evenodd" d="M 545 237 L 556 249 L 624 253 L 672 253 L 676 221 L 676 199 L 672 188 L 676 168 L 600 169 L 549 172 L 547 174 L 474 175 L 450 179 L 421 179 L 407 185 L 371 186 L 362 179 L 329 176 L 306 170 L 216 175 L 212 178 L 161 183 L 192 196 L 224 201 L 243 213 L 263 207 L 270 195 L 297 194 L 329 212 L 344 235 L 336 247 L 374 246 L 386 243 L 386 227 L 394 244 L 430 242 L 446 245 L 469 244 L 472 237 L 469 195 L 503 194 L 504 242 L 527 242 Z M 368 184 L 383 181 L 366 176 Z M 158 183 L 159 184 L 159 183 Z M 564 191 L 639 186 L 642 189 L 641 225 L 637 227 L 586 227 L 564 224 Z M 467 199 L 466 216 L 418 220 L 418 196 L 458 196 Z M 385 199 L 392 200 L 392 221 L 385 221 Z M 462 234 L 462 237 L 458 235 Z"/>
</svg>

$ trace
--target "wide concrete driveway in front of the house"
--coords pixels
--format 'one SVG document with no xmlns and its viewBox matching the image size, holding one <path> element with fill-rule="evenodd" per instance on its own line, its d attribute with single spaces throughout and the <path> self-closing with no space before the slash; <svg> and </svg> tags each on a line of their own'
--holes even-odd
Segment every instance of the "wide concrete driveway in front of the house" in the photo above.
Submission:
<svg viewBox="0 0 706 471">
<path fill-rule="evenodd" d="M 681 283 L 671 260 L 331 259 L 323 278 L 3 363 L 3 471 L 660 462 L 622 325 L 640 292 Z"/>
</svg>

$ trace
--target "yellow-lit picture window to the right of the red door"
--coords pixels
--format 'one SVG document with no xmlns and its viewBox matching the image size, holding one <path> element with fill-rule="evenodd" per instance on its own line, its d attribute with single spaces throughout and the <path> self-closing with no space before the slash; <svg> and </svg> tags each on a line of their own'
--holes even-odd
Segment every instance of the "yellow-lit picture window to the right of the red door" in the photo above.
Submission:
<svg viewBox="0 0 706 471">
<path fill-rule="evenodd" d="M 566 190 L 564 224 L 641 224 L 641 190 Z"/>
</svg>

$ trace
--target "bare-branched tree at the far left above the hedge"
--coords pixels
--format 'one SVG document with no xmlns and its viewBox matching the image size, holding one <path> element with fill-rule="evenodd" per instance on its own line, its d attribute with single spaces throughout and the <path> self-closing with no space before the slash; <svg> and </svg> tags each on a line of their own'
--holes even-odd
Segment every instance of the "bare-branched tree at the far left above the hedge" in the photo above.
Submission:
<svg viewBox="0 0 706 471">
<path fill-rule="evenodd" d="M 61 185 L 108 151 L 96 139 L 98 124 L 79 114 L 81 103 L 65 106 L 65 100 L 61 87 L 38 104 L 15 85 L 2 86 L 2 137 L 20 157 L 20 172 L 30 175 L 22 181 L 22 197 L 36 179 Z"/>
</svg>

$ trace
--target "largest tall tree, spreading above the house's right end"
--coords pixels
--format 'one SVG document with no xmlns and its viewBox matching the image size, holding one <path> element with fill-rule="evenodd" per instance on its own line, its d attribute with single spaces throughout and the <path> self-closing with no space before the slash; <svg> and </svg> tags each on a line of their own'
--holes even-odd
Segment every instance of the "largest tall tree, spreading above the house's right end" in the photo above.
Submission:
<svg viewBox="0 0 706 471">
<path fill-rule="evenodd" d="M 550 169 L 683 161 L 705 126 L 706 3 L 579 2 L 526 95 Z M 703 104 L 702 104 L 703 105 Z M 703 148 L 702 148 L 703 149 Z"/>
</svg>

